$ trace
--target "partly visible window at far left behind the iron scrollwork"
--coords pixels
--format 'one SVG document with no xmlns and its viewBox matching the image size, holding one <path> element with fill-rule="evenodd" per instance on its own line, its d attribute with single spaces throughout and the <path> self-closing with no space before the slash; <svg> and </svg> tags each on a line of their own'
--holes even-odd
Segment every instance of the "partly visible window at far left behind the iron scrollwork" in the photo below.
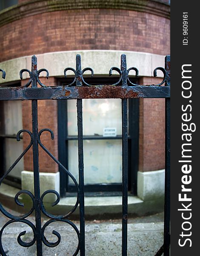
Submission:
<svg viewBox="0 0 200 256">
<path fill-rule="evenodd" d="M 23 140 L 17 142 L 17 132 L 22 129 L 22 105 L 21 101 L 0 102 L 0 148 L 1 148 L 1 177 L 14 161 L 23 152 Z M 17 163 L 4 180 L 12 186 L 20 188 L 21 171 L 23 171 L 23 159 Z"/>
</svg>

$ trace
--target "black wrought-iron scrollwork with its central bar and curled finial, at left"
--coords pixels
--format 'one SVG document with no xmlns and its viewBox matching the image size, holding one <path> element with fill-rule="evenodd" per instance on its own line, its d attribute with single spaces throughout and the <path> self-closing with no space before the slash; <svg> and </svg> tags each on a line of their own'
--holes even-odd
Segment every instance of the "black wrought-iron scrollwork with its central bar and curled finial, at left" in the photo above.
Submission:
<svg viewBox="0 0 200 256">
<path fill-rule="evenodd" d="M 3 78 L 5 78 L 6 73 L 3 70 L 0 70 L 0 71 L 2 71 L 2 73 L 3 73 Z M 37 87 L 37 83 L 40 84 L 42 87 L 45 87 L 45 85 L 40 82 L 39 75 L 42 71 L 46 71 L 47 78 L 48 78 L 49 72 L 46 69 L 40 69 L 39 71 L 37 71 L 37 58 L 35 55 L 32 56 L 31 71 L 27 70 L 27 69 L 23 69 L 20 71 L 21 79 L 22 79 L 22 74 L 25 71 L 28 72 L 29 76 L 30 76 L 30 79 L 29 79 L 28 83 L 25 85 L 25 87 L 28 87 L 31 84 L 31 87 L 34 88 L 34 87 Z M 77 207 L 80 203 L 79 185 L 78 185 L 76 179 L 74 178 L 74 176 L 71 175 L 71 173 L 49 152 L 49 150 L 43 145 L 43 143 L 40 140 L 40 136 L 44 131 L 48 131 L 51 134 L 51 139 L 53 140 L 54 139 L 53 131 L 51 131 L 50 129 L 42 129 L 38 132 L 37 128 L 38 128 L 37 100 L 32 100 L 32 132 L 28 131 L 28 130 L 20 130 L 16 136 L 17 141 L 20 141 L 20 135 L 23 132 L 28 133 L 30 136 L 29 145 L 26 147 L 26 149 L 23 151 L 23 153 L 20 154 L 20 156 L 17 158 L 17 160 L 15 160 L 15 162 L 11 165 L 9 170 L 0 179 L 0 185 L 1 185 L 3 180 L 9 175 L 11 170 L 17 165 L 17 163 L 22 159 L 22 157 L 26 154 L 26 152 L 29 151 L 29 149 L 32 147 L 33 148 L 33 166 L 34 166 L 34 195 L 28 190 L 20 190 L 19 192 L 17 192 L 17 194 L 15 195 L 15 198 L 14 198 L 14 201 L 17 205 L 19 205 L 20 207 L 24 207 L 24 204 L 22 202 L 20 202 L 19 196 L 22 194 L 29 195 L 29 197 L 31 198 L 31 201 L 32 201 L 32 207 L 27 213 L 20 215 L 20 216 L 16 216 L 16 215 L 12 215 L 10 212 L 6 211 L 6 209 L 3 207 L 3 205 L 0 204 L 0 211 L 3 213 L 3 215 L 5 215 L 7 218 L 10 219 L 0 230 L 0 255 L 2 255 L 2 256 L 7 255 L 5 250 L 3 249 L 2 236 L 3 236 L 3 231 L 9 224 L 14 223 L 14 222 L 22 222 L 22 223 L 28 225 L 29 227 L 31 227 L 31 230 L 33 232 L 32 241 L 25 242 L 21 239 L 21 237 L 24 236 L 26 233 L 26 230 L 24 230 L 23 232 L 21 232 L 18 235 L 17 242 L 22 247 L 31 247 L 36 242 L 37 256 L 42 256 L 43 255 L 42 243 L 45 244 L 47 247 L 56 247 L 58 244 L 60 244 L 60 241 L 61 241 L 60 234 L 57 231 L 53 230 L 52 234 L 57 238 L 57 241 L 49 242 L 44 235 L 46 227 L 55 221 L 61 221 L 66 224 L 69 224 L 77 234 L 78 244 L 77 244 L 77 247 L 73 254 L 73 256 L 75 256 L 81 250 L 80 232 L 79 232 L 78 228 L 76 227 L 76 225 L 72 221 L 69 220 L 69 216 L 77 209 Z M 60 168 L 63 169 L 63 171 L 66 172 L 66 174 L 69 175 L 69 177 L 71 177 L 71 179 L 73 180 L 73 182 L 77 188 L 76 203 L 74 204 L 74 207 L 72 207 L 72 209 L 65 215 L 53 215 L 45 209 L 45 206 L 43 204 L 43 198 L 47 194 L 52 193 L 57 198 L 55 200 L 55 202 L 52 203 L 52 205 L 51 205 L 52 207 L 54 207 L 55 205 L 57 205 L 59 203 L 60 195 L 57 191 L 55 191 L 53 189 L 49 189 L 49 190 L 43 192 L 42 195 L 40 195 L 38 146 L 40 146 L 60 166 Z M 35 212 L 35 224 L 31 223 L 31 221 L 26 219 L 33 212 Z M 42 223 L 41 223 L 41 212 L 44 215 L 46 215 L 48 218 L 50 218 L 50 220 L 47 221 L 43 225 L 43 227 L 42 227 Z M 83 254 L 81 254 L 81 255 L 83 255 Z"/>
</svg>

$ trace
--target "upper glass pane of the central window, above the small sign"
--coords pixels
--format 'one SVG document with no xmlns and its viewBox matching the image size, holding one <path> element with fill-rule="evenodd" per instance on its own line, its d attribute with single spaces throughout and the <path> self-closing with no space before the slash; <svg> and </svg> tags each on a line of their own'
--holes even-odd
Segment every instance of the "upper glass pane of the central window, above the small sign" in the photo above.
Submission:
<svg viewBox="0 0 200 256">
<path fill-rule="evenodd" d="M 77 135 L 76 100 L 68 100 L 68 135 Z M 83 135 L 103 135 L 116 128 L 121 135 L 121 99 L 83 99 Z"/>
</svg>

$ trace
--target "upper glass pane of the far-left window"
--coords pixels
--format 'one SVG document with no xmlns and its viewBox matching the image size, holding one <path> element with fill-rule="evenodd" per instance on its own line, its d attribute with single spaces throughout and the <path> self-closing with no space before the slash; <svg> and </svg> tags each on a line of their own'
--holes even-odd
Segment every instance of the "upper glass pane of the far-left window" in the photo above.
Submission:
<svg viewBox="0 0 200 256">
<path fill-rule="evenodd" d="M 17 134 L 22 129 L 22 103 L 18 100 L 4 102 L 5 134 Z"/>
</svg>

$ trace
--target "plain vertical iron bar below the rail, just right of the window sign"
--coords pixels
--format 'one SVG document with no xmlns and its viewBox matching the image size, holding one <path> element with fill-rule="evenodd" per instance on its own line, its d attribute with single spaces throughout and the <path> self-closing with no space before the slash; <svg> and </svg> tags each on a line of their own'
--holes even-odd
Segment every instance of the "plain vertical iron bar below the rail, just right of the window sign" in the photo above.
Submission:
<svg viewBox="0 0 200 256">
<path fill-rule="evenodd" d="M 127 256 L 128 223 L 128 113 L 127 99 L 122 99 L 122 256 Z"/>
</svg>

